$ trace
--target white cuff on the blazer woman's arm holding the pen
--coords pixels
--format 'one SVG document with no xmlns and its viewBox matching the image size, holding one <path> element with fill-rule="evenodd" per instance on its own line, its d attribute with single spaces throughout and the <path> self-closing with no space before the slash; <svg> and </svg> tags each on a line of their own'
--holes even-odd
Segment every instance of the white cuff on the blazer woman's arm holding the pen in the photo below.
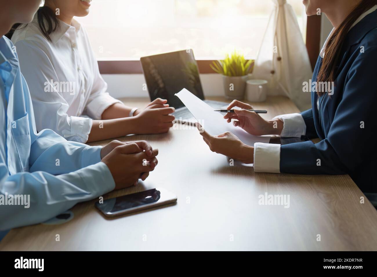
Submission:
<svg viewBox="0 0 377 277">
<path fill-rule="evenodd" d="M 274 119 L 280 119 L 283 121 L 283 130 L 280 134 L 281 137 L 289 138 L 301 138 L 306 134 L 305 121 L 299 113 L 288 113 L 287 115 L 278 115 Z"/>
</svg>

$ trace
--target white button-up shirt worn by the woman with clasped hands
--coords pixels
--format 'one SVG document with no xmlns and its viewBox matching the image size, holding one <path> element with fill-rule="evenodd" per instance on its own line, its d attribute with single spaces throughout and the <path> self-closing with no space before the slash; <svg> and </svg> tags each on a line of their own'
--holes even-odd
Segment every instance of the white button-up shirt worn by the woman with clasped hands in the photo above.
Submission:
<svg viewBox="0 0 377 277">
<path fill-rule="evenodd" d="M 14 32 L 12 42 L 29 86 L 37 130 L 52 129 L 67 140 L 86 142 L 92 119 L 101 119 L 104 110 L 121 101 L 106 92 L 83 26 L 76 20 L 72 25 L 59 22 L 50 42 L 35 15 Z"/>
</svg>

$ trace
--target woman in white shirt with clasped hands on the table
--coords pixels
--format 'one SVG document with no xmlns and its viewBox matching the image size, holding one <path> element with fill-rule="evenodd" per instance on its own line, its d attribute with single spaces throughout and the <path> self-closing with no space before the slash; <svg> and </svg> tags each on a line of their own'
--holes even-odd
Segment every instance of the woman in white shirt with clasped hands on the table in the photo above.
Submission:
<svg viewBox="0 0 377 277">
<path fill-rule="evenodd" d="M 164 133 L 173 107 L 155 99 L 145 109 L 124 105 L 107 92 L 89 38 L 73 17 L 91 0 L 45 0 L 34 20 L 12 35 L 32 97 L 37 130 L 90 142 L 128 134 Z"/>
</svg>

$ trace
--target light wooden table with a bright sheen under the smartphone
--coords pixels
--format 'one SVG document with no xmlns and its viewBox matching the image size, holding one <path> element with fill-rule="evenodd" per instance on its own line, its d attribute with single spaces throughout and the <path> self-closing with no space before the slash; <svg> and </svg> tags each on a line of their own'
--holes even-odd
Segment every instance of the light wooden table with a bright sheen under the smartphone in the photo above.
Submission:
<svg viewBox="0 0 377 277">
<path fill-rule="evenodd" d="M 253 106 L 267 109 L 265 118 L 298 112 L 284 97 Z M 16 228 L 0 250 L 377 250 L 377 211 L 366 198 L 360 204 L 364 194 L 348 175 L 254 173 L 239 162 L 230 166 L 197 130 L 120 138 L 138 139 L 159 149 L 158 166 L 137 187 L 105 198 L 164 187 L 178 196 L 175 205 L 105 219 L 94 208 L 97 200 L 80 203 L 70 222 Z M 290 207 L 259 205 L 265 193 L 289 194 Z"/>
</svg>

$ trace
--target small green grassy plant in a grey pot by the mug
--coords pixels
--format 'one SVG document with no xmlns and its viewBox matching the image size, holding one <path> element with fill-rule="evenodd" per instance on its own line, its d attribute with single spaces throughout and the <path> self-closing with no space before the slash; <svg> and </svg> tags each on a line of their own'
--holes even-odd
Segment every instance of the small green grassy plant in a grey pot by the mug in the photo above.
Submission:
<svg viewBox="0 0 377 277">
<path fill-rule="evenodd" d="M 244 55 L 237 51 L 227 54 L 224 60 L 213 61 L 210 67 L 222 74 L 225 96 L 228 99 L 244 99 L 245 84 L 248 73 L 252 71 L 254 60 L 245 60 Z"/>
</svg>

